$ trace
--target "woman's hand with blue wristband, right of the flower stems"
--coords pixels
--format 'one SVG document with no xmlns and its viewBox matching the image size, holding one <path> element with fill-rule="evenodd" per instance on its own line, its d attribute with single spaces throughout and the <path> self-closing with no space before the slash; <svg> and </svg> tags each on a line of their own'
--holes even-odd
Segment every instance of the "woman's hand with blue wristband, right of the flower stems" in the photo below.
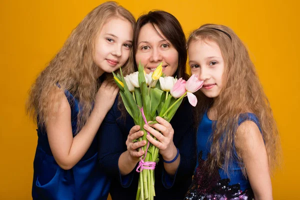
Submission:
<svg viewBox="0 0 300 200">
<path fill-rule="evenodd" d="M 159 149 L 159 153 L 162 155 L 164 160 L 172 160 L 177 154 L 177 149 L 173 143 L 174 129 L 169 122 L 160 116 L 156 116 L 155 119 L 158 123 L 149 125 L 145 124 L 144 128 L 146 131 L 156 137 L 158 141 L 150 135 L 147 135 L 146 137 L 149 142 Z"/>
</svg>

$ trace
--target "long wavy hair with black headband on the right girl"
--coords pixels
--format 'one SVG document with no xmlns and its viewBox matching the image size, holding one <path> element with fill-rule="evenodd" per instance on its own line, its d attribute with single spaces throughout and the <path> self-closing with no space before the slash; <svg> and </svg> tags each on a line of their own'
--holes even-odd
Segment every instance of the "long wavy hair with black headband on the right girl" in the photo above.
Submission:
<svg viewBox="0 0 300 200">
<path fill-rule="evenodd" d="M 254 64 L 250 60 L 248 51 L 242 41 L 232 29 L 224 25 L 204 24 L 192 31 L 187 40 L 188 45 L 195 40 L 213 41 L 218 44 L 224 62 L 224 87 L 219 95 L 212 99 L 198 92 L 198 119 L 209 107 L 216 110 L 217 122 L 213 124 L 211 135 L 210 157 L 208 168 L 222 167 L 227 174 L 228 166 L 236 159 L 246 171 L 240 157 L 233 156 L 234 137 L 240 113 L 252 112 L 258 119 L 262 137 L 268 155 L 270 171 L 279 163 L 281 154 L 279 134 L 273 117 L 270 103 L 262 89 Z M 199 121 L 198 121 L 199 122 Z M 238 152 L 239 149 L 236 149 Z"/>
</svg>

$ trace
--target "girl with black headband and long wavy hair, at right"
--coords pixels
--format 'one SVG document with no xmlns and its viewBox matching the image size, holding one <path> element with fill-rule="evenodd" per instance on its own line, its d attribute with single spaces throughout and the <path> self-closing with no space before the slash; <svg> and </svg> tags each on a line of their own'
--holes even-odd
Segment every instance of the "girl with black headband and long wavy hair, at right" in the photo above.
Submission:
<svg viewBox="0 0 300 200">
<path fill-rule="evenodd" d="M 197 165 L 186 199 L 272 199 L 280 143 L 269 101 L 238 36 L 224 25 L 191 32 L 198 94 Z"/>
</svg>

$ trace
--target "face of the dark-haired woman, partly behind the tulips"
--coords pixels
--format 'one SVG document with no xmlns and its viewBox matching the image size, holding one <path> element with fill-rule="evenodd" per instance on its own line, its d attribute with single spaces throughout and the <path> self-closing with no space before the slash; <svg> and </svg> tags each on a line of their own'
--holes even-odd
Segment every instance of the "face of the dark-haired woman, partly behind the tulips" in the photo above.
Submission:
<svg viewBox="0 0 300 200">
<path fill-rule="evenodd" d="M 162 72 L 172 76 L 178 67 L 178 52 L 170 41 L 165 40 L 166 37 L 155 24 L 154 27 L 157 31 L 151 23 L 146 23 L 140 28 L 135 62 L 137 65 L 141 62 L 146 73 L 154 71 L 157 65 L 163 62 Z"/>
</svg>

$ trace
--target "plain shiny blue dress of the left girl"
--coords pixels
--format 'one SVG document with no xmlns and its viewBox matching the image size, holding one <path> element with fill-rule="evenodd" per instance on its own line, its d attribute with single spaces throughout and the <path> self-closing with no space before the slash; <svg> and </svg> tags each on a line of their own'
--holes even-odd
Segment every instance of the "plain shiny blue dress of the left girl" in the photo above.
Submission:
<svg viewBox="0 0 300 200">
<path fill-rule="evenodd" d="M 71 108 L 72 133 L 76 131 L 78 100 L 65 90 Z M 32 198 L 93 200 L 107 199 L 110 181 L 97 165 L 97 139 L 93 139 L 84 156 L 71 169 L 56 163 L 45 128 L 37 129 L 37 147 L 33 161 Z"/>
</svg>

